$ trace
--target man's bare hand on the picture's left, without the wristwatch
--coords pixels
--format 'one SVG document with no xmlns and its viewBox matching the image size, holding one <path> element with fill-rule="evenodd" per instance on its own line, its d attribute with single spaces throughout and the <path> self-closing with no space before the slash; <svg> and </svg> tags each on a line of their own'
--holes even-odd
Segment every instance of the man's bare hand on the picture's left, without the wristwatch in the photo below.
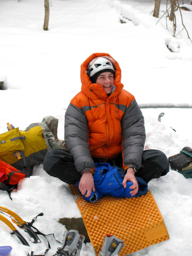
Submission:
<svg viewBox="0 0 192 256">
<path fill-rule="evenodd" d="M 89 197 L 91 195 L 92 190 L 93 192 L 95 192 L 93 174 L 91 172 L 85 171 L 82 174 L 82 177 L 79 182 L 79 190 L 81 191 L 82 195 L 85 195 L 87 192 L 85 197 Z"/>
</svg>

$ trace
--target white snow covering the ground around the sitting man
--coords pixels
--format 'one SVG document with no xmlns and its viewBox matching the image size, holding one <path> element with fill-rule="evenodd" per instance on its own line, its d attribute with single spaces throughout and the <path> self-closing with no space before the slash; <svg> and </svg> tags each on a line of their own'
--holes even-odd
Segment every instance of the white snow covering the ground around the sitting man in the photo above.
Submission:
<svg viewBox="0 0 192 256">
<path fill-rule="evenodd" d="M 181 6 L 191 10 L 190 1 Z M 183 5 L 182 5 L 183 4 Z M 58 137 L 64 138 L 64 115 L 71 98 L 80 90 L 80 65 L 94 52 L 107 52 L 122 69 L 122 83 L 142 108 L 145 117 L 145 149 L 162 150 L 167 157 L 192 147 L 191 139 L 191 63 L 192 45 L 182 30 L 176 12 L 177 38 L 163 14 L 152 16 L 150 0 L 51 0 L 49 30 L 43 30 L 43 0 L 0 0 L 0 80 L 7 90 L 0 90 L 0 133 L 6 123 L 20 130 L 43 117 L 59 119 Z M 190 11 L 181 10 L 183 22 L 192 37 Z M 121 24 L 124 17 L 127 23 Z M 172 49 L 170 52 L 167 48 Z M 157 106 L 164 108 L 155 108 Z M 166 106 L 172 108 L 166 108 Z M 158 121 L 160 113 L 165 113 Z M 174 131 L 174 130 L 176 131 Z M 161 211 L 170 239 L 133 253 L 134 256 L 190 256 L 192 250 L 192 179 L 176 171 L 149 182 L 149 190 Z M 19 183 L 9 199 L 0 191 L 0 205 L 25 221 L 40 212 L 34 225 L 43 233 L 54 233 L 62 241 L 65 226 L 62 217 L 80 217 L 69 186 L 50 177 L 42 164 L 33 176 Z M 27 234 L 19 230 L 25 237 Z M 29 241 L 29 237 L 27 241 Z M 60 246 L 49 237 L 53 255 Z M 12 246 L 11 256 L 41 254 L 47 243 L 22 245 L 0 222 L 0 246 Z M 91 243 L 83 244 L 80 256 L 94 256 Z"/>
</svg>

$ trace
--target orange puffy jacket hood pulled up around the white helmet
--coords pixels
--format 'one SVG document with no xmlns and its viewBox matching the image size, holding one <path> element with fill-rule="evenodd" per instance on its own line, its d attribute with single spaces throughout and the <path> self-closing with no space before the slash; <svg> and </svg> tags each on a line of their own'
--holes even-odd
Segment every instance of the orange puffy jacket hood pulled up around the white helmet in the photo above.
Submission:
<svg viewBox="0 0 192 256">
<path fill-rule="evenodd" d="M 103 87 L 100 84 L 92 84 L 89 76 L 87 75 L 87 68 L 88 64 L 91 60 L 97 57 L 105 57 L 109 59 L 112 64 L 115 66 L 115 90 L 111 93 L 113 96 L 117 96 L 122 88 L 123 84 L 121 83 L 121 69 L 119 64 L 116 60 L 114 60 L 108 53 L 93 53 L 90 55 L 82 64 L 81 64 L 81 91 L 87 95 L 90 99 L 97 99 L 99 98 L 108 98 L 106 92 L 104 91 Z"/>
</svg>

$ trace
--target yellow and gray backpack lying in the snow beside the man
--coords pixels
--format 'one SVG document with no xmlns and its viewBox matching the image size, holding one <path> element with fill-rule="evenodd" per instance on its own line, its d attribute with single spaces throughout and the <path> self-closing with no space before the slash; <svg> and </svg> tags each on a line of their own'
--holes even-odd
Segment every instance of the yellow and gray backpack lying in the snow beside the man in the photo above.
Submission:
<svg viewBox="0 0 192 256">
<path fill-rule="evenodd" d="M 57 128 L 58 119 L 52 116 L 29 125 L 25 131 L 8 123 L 8 132 L 0 134 L 0 160 L 23 170 L 29 177 L 33 166 L 43 163 L 49 150 L 66 149 L 64 140 L 57 137 Z"/>
</svg>

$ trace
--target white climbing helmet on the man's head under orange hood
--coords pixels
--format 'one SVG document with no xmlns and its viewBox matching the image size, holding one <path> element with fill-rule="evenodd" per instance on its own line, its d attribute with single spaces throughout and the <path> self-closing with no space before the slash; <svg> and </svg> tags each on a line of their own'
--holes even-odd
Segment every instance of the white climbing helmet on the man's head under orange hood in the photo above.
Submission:
<svg viewBox="0 0 192 256">
<path fill-rule="evenodd" d="M 89 63 L 87 74 L 89 77 L 92 77 L 95 73 L 103 69 L 111 69 L 115 72 L 114 66 L 110 60 L 104 57 L 97 57 Z"/>
</svg>

